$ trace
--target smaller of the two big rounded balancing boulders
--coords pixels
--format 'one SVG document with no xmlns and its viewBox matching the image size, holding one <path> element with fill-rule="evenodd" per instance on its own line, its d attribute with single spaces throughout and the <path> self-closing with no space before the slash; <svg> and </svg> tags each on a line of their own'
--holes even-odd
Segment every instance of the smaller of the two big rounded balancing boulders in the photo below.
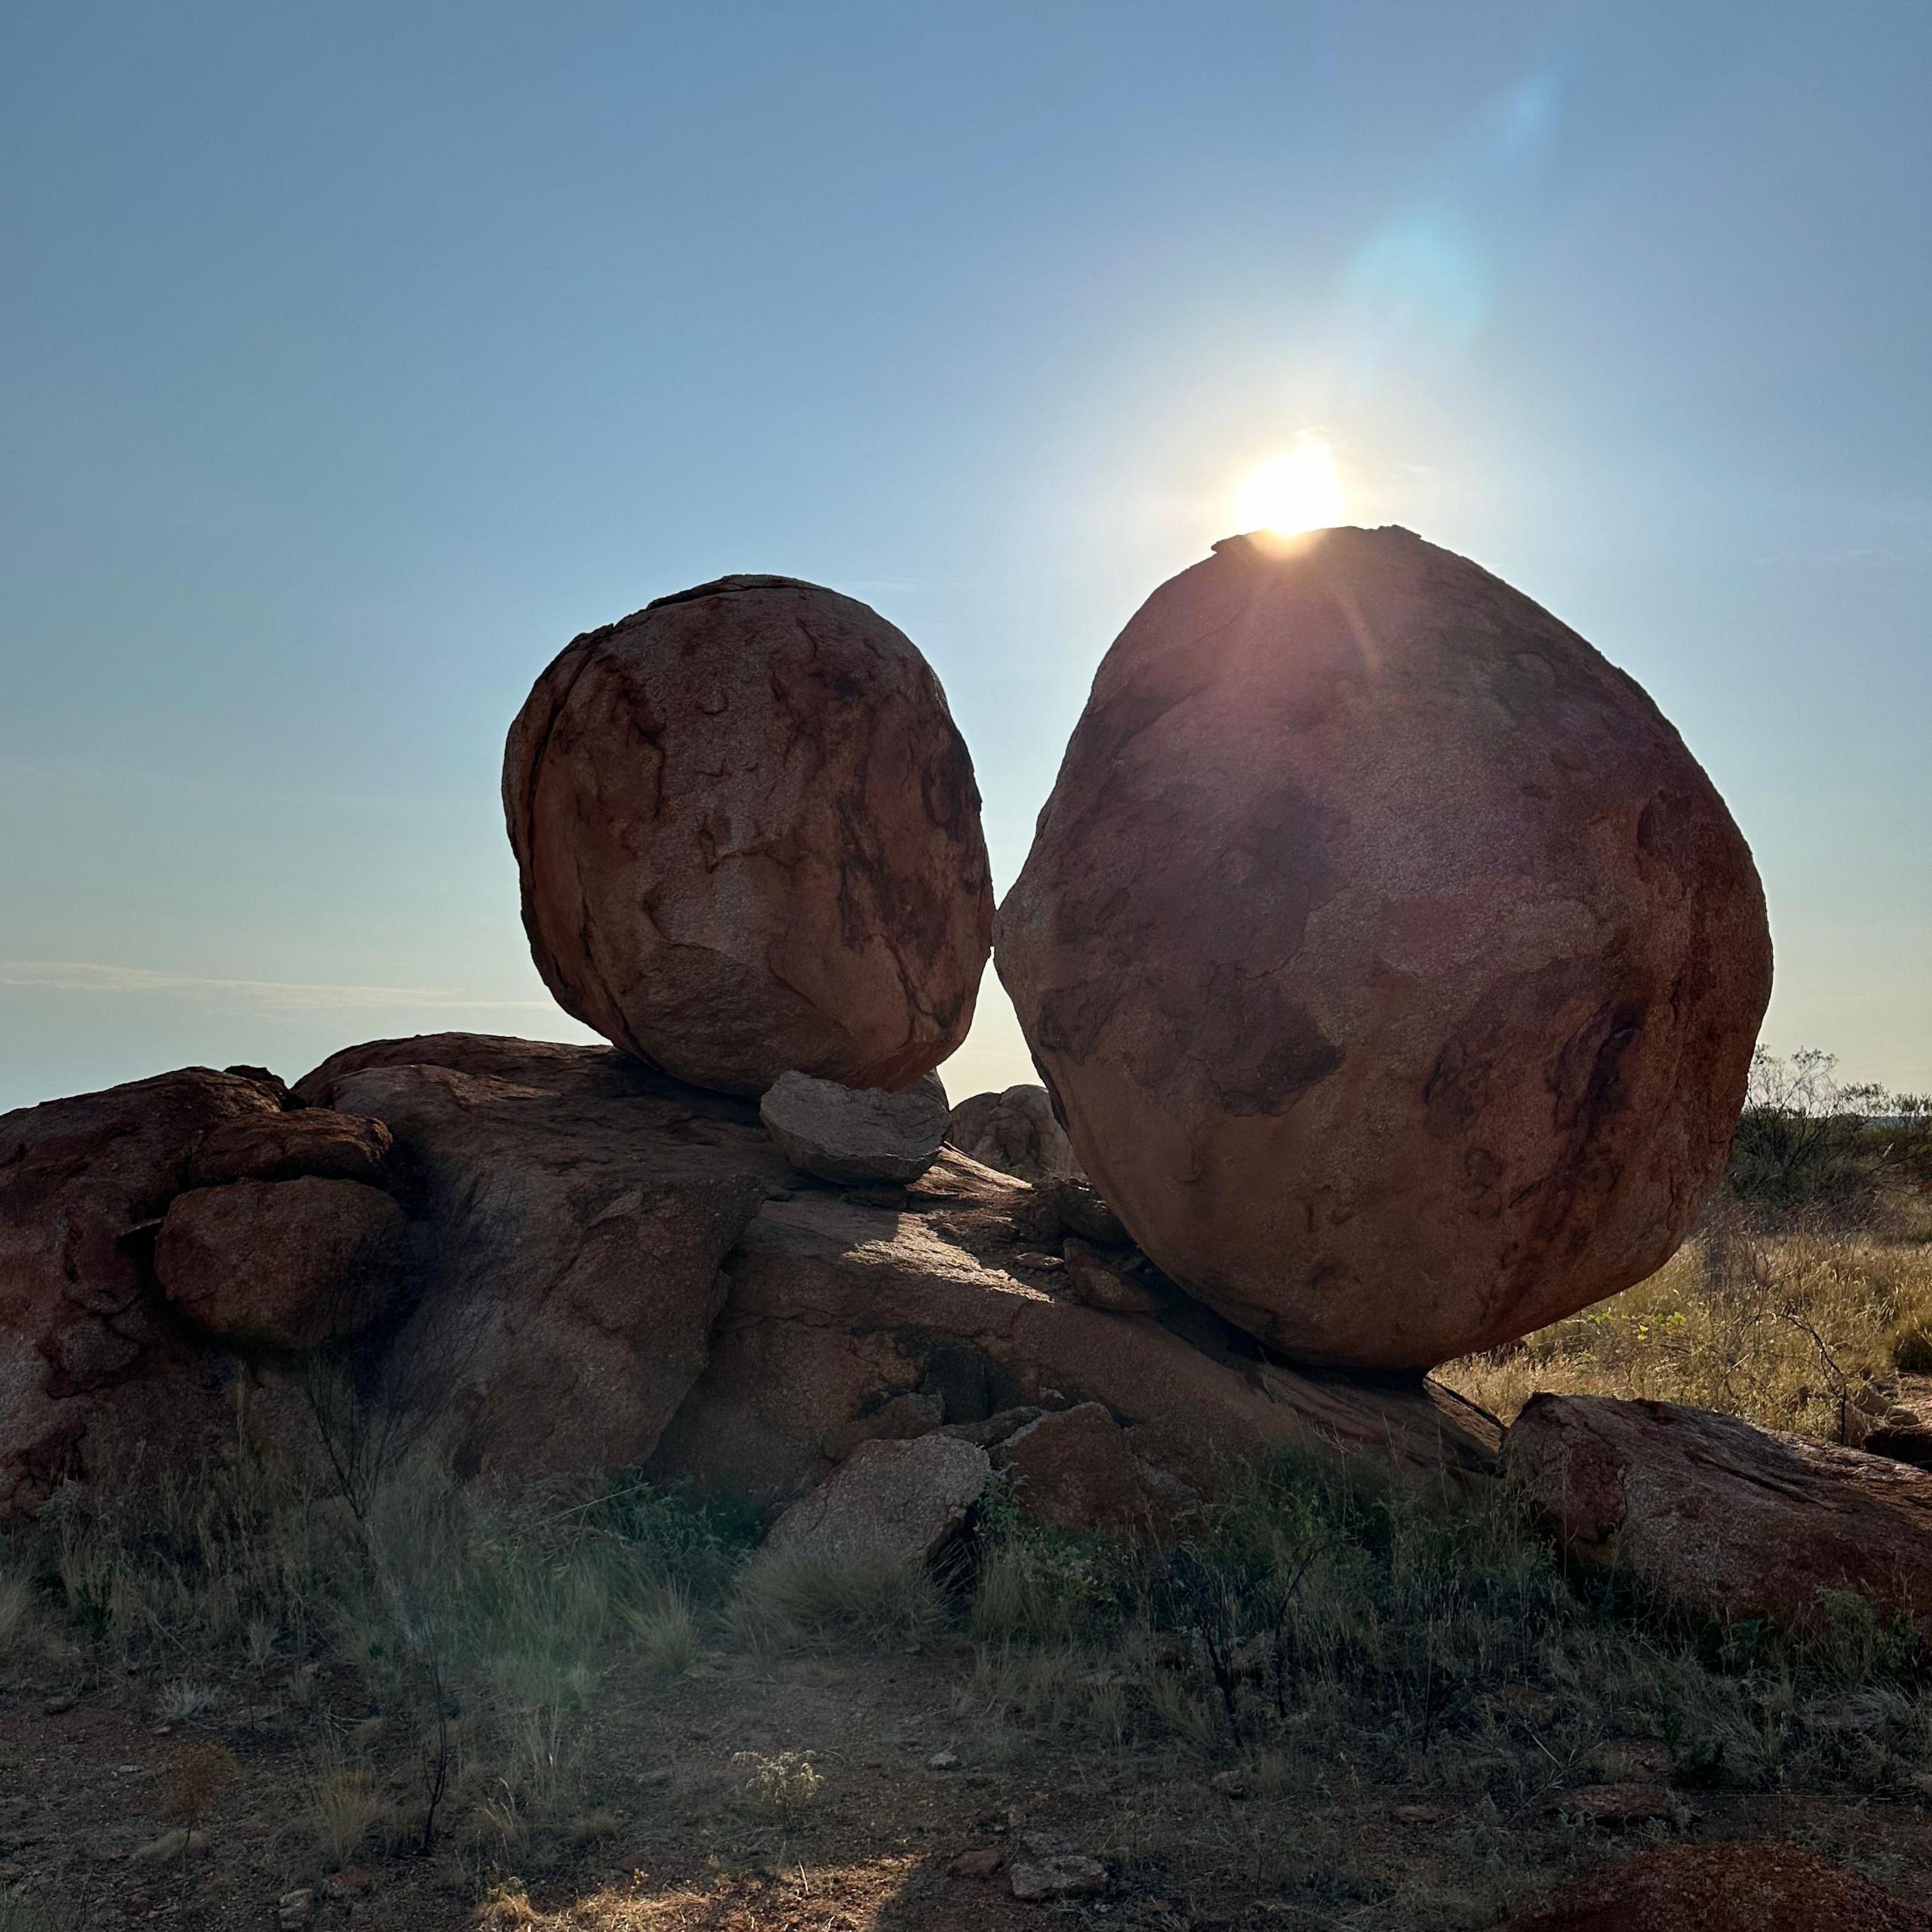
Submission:
<svg viewBox="0 0 1932 1932">
<path fill-rule="evenodd" d="M 972 759 L 920 651 L 792 578 L 585 632 L 504 753 L 558 1003 L 696 1086 L 902 1088 L 972 1022 L 993 929 Z"/>
</svg>

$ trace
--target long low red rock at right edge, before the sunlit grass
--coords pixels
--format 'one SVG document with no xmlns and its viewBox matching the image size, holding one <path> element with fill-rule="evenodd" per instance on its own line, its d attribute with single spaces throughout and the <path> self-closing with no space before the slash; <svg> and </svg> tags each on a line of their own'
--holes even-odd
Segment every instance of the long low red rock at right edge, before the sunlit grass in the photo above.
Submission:
<svg viewBox="0 0 1932 1932">
<path fill-rule="evenodd" d="M 1536 1395 L 1509 1472 L 1565 1551 L 1710 1617 L 1814 1629 L 1833 1592 L 1932 1634 L 1932 1474 L 1675 1403 Z"/>
</svg>

